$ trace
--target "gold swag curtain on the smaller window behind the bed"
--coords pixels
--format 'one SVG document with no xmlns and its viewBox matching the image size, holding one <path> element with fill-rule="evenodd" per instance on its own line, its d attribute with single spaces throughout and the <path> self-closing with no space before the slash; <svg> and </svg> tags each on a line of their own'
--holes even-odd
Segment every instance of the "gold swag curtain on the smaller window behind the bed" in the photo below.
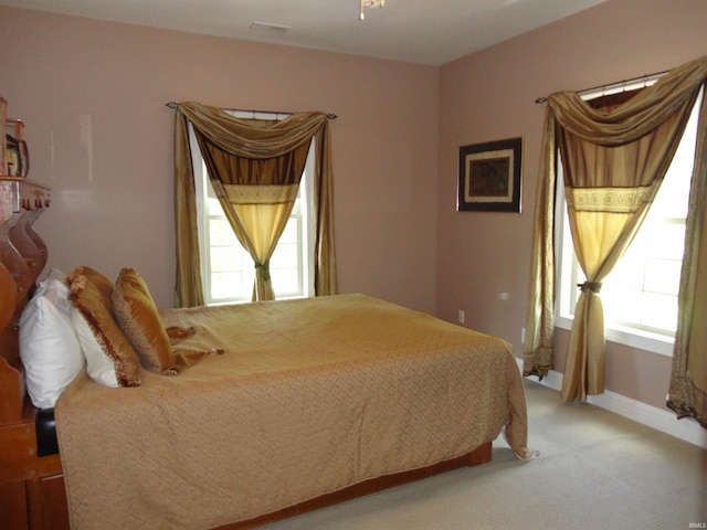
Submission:
<svg viewBox="0 0 707 530">
<path fill-rule="evenodd" d="M 198 103 L 177 105 L 175 199 L 177 224 L 177 305 L 203 304 L 197 210 L 188 123 L 209 178 L 236 237 L 253 257 L 253 299 L 274 299 L 270 258 L 284 230 L 314 138 L 315 292 L 337 289 L 333 226 L 328 118 L 323 113 L 293 114 L 282 121 L 241 119 Z"/>
</svg>

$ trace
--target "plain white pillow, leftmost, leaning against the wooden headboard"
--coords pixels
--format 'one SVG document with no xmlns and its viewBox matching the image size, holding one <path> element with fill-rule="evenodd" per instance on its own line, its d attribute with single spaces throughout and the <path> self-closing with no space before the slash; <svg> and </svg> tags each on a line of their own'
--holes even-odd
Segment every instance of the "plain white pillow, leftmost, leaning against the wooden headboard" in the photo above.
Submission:
<svg viewBox="0 0 707 530">
<path fill-rule="evenodd" d="M 70 317 L 68 288 L 57 279 L 62 276 L 50 273 L 20 317 L 20 358 L 28 393 L 38 409 L 54 406 L 84 365 Z"/>
</svg>

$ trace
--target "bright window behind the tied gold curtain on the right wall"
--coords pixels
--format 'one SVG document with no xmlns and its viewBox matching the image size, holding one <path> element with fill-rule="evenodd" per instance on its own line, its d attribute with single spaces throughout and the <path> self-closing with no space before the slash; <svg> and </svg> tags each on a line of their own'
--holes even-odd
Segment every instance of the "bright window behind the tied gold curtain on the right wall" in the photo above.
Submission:
<svg viewBox="0 0 707 530">
<path fill-rule="evenodd" d="M 677 294 L 698 108 L 699 102 L 643 225 L 601 288 L 606 339 L 666 356 L 673 354 L 677 328 Z M 585 278 L 572 246 L 561 167 L 557 197 L 556 219 L 563 222 L 556 245 L 559 250 L 556 315 L 557 325 L 570 329 L 579 298 L 577 285 Z"/>
</svg>

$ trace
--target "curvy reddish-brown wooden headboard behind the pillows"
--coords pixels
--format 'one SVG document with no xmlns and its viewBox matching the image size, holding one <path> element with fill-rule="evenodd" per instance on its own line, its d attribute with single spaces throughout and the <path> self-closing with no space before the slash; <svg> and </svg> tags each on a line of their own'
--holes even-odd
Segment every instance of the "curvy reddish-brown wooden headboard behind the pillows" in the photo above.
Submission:
<svg viewBox="0 0 707 530">
<path fill-rule="evenodd" d="M 33 223 L 50 205 L 50 189 L 0 177 L 0 426 L 28 415 L 18 322 L 46 265 L 46 245 Z"/>
</svg>

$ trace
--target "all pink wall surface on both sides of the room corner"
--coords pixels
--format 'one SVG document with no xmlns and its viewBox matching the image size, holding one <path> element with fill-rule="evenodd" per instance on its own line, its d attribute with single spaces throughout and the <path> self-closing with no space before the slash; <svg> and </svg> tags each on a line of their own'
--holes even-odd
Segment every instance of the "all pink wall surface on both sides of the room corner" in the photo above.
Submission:
<svg viewBox="0 0 707 530">
<path fill-rule="evenodd" d="M 463 309 L 520 354 L 545 114 L 534 100 L 703 55 L 705 20 L 704 0 L 610 0 L 436 68 L 0 8 L 0 95 L 27 123 L 30 177 L 54 189 L 38 223 L 51 266 L 133 266 L 160 306 L 175 274 L 163 104 L 336 113 L 340 290 L 451 321 Z M 523 213 L 457 213 L 458 147 L 518 136 Z M 610 390 L 663 406 L 668 377 L 668 358 L 609 346 Z"/>
</svg>

